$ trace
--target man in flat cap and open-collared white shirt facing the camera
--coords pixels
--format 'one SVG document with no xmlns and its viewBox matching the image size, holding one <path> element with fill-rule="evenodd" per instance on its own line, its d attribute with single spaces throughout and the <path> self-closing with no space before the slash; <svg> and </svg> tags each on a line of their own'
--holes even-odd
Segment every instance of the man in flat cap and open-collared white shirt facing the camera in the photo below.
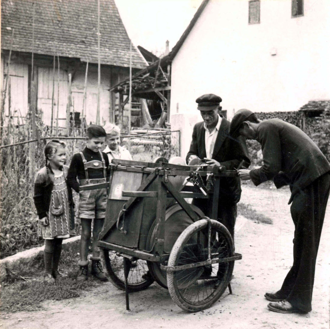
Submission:
<svg viewBox="0 0 330 329">
<path fill-rule="evenodd" d="M 219 115 L 221 100 L 221 97 L 215 94 L 205 94 L 196 99 L 197 109 L 203 121 L 194 126 L 190 149 L 186 157 L 187 164 L 199 158 L 208 165 L 221 165 L 227 170 L 237 169 L 240 165 L 241 167 L 250 165 L 245 140 L 229 138 L 230 122 Z M 240 197 L 239 177 L 221 177 L 218 215 L 214 219 L 226 226 L 233 239 L 236 204 Z M 211 215 L 210 204 L 205 204 L 204 200 L 195 199 L 194 204 L 198 205 L 206 215 Z"/>
</svg>

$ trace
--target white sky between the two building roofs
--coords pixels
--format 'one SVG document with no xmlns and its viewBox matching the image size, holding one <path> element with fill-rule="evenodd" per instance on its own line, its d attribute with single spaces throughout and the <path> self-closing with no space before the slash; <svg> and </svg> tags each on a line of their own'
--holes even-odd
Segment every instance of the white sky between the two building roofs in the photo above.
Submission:
<svg viewBox="0 0 330 329">
<path fill-rule="evenodd" d="M 128 36 L 135 46 L 164 52 L 175 46 L 202 0 L 115 0 Z"/>
</svg>

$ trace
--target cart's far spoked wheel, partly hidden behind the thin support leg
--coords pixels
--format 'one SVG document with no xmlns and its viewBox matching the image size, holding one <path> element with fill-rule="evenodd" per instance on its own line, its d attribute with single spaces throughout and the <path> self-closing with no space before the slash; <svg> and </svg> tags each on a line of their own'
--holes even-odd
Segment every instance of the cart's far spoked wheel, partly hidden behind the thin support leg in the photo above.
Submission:
<svg viewBox="0 0 330 329">
<path fill-rule="evenodd" d="M 124 259 L 118 256 L 116 251 L 104 249 L 104 260 L 108 274 L 113 284 L 121 290 L 125 290 Z M 128 291 L 140 291 L 149 287 L 154 281 L 148 272 L 147 262 L 137 259 L 136 265 L 131 267 L 128 274 Z"/>
</svg>

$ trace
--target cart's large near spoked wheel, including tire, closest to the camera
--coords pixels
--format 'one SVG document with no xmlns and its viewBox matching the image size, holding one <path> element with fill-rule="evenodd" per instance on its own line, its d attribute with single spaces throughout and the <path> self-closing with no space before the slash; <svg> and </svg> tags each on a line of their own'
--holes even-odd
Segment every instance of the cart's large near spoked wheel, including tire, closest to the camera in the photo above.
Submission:
<svg viewBox="0 0 330 329">
<path fill-rule="evenodd" d="M 201 219 L 187 227 L 173 246 L 169 267 L 196 264 L 211 259 L 234 256 L 234 243 L 219 222 Z M 167 271 L 167 286 L 175 303 L 185 311 L 202 311 L 215 303 L 226 290 L 234 261 L 215 263 L 180 271 Z"/>
</svg>

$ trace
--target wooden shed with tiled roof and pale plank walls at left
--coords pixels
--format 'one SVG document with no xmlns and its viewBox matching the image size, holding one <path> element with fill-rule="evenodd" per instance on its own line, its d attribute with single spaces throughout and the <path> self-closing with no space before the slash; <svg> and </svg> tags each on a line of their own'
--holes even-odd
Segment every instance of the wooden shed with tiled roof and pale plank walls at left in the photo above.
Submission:
<svg viewBox="0 0 330 329">
<path fill-rule="evenodd" d="M 95 123 L 100 60 L 100 123 L 115 121 L 118 95 L 110 89 L 129 76 L 130 62 L 133 73 L 147 62 L 130 47 L 114 0 L 99 3 L 99 9 L 98 0 L 2 3 L 4 120 L 24 123 L 31 104 L 36 104 L 37 115 L 48 126 L 55 125 L 57 111 L 60 127 L 66 127 L 69 112 Z"/>
</svg>

